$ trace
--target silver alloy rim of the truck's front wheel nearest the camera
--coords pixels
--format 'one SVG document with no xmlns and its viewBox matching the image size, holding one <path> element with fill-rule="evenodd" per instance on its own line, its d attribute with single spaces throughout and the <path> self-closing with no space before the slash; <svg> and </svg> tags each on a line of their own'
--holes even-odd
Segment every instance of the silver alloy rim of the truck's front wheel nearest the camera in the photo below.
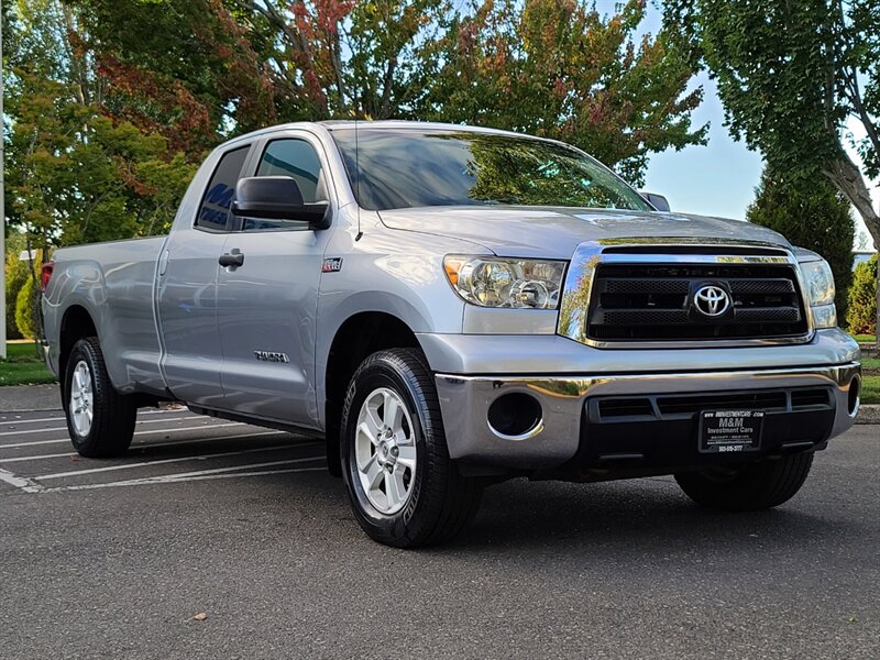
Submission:
<svg viewBox="0 0 880 660">
<path fill-rule="evenodd" d="M 404 508 L 416 477 L 416 439 L 406 404 L 393 389 L 374 389 L 361 404 L 354 458 L 370 504 L 388 516 Z"/>
</svg>

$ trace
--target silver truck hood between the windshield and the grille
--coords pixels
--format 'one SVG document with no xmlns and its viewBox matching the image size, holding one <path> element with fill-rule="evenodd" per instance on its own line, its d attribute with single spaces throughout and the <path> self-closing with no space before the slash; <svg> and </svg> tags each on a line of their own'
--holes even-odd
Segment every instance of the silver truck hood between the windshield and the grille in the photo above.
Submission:
<svg viewBox="0 0 880 660">
<path fill-rule="evenodd" d="M 459 206 L 380 211 L 405 231 L 465 239 L 499 256 L 569 258 L 580 243 L 614 239 L 707 239 L 791 249 L 780 234 L 741 220 L 660 211 L 562 207 Z"/>
</svg>

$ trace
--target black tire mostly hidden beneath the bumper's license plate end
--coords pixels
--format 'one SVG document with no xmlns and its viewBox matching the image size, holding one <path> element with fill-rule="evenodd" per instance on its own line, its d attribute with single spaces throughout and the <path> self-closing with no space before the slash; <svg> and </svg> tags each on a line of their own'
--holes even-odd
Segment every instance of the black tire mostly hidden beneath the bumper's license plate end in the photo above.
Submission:
<svg viewBox="0 0 880 660">
<path fill-rule="evenodd" d="M 812 452 L 799 453 L 751 463 L 734 474 L 689 472 L 676 474 L 675 481 L 685 495 L 701 506 L 755 512 L 791 499 L 806 481 L 812 464 Z"/>
</svg>

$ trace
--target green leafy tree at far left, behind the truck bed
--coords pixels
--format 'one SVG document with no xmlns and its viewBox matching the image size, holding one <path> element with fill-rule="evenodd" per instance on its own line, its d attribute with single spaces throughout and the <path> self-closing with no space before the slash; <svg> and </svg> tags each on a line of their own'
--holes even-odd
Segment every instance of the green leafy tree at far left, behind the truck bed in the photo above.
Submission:
<svg viewBox="0 0 880 660">
<path fill-rule="evenodd" d="M 10 224 L 43 255 L 167 228 L 195 164 L 161 134 L 107 111 L 108 82 L 79 45 L 81 16 L 72 7 L 32 0 L 16 10 L 4 80 Z"/>
</svg>

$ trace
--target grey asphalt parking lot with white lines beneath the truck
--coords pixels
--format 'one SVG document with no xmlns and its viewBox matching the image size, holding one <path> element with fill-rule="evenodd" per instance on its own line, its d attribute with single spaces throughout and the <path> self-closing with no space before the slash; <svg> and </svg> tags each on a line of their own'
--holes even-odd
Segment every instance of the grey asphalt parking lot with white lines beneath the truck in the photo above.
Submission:
<svg viewBox="0 0 880 660">
<path fill-rule="evenodd" d="M 856 427 L 740 515 L 669 479 L 518 480 L 453 544 L 400 551 L 308 439 L 143 410 L 95 461 L 61 411 L 0 414 L 0 658 L 876 659 L 878 468 Z"/>
</svg>

